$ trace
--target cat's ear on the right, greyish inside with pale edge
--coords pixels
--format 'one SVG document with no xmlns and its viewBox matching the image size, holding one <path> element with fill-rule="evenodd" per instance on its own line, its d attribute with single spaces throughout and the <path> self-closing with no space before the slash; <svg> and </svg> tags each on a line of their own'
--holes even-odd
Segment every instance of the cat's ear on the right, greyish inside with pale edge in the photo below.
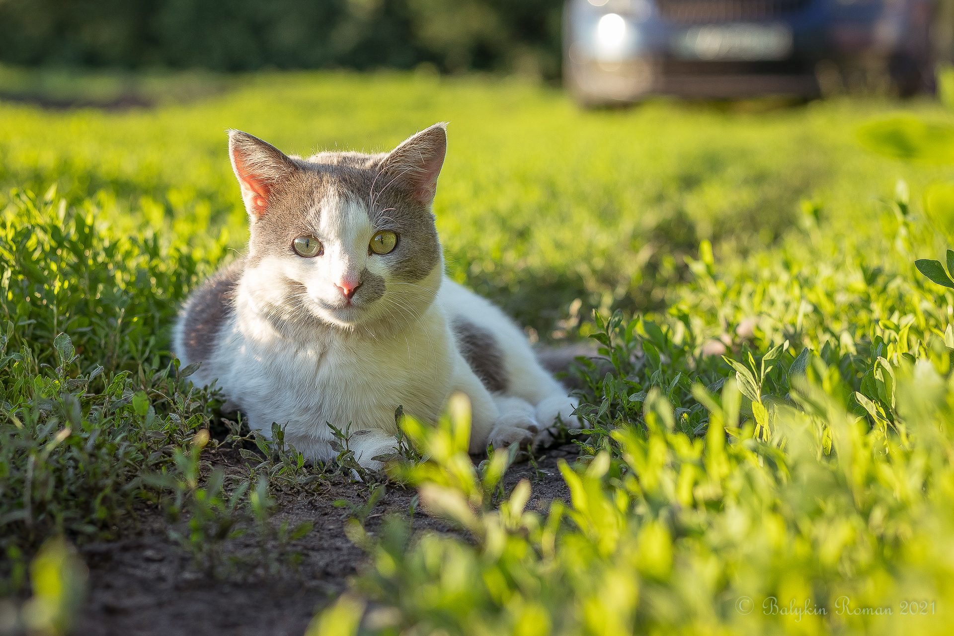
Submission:
<svg viewBox="0 0 954 636">
<path fill-rule="evenodd" d="M 407 137 L 386 157 L 384 172 L 399 179 L 417 200 L 430 205 L 437 193 L 437 177 L 447 154 L 447 122 Z"/>
</svg>

